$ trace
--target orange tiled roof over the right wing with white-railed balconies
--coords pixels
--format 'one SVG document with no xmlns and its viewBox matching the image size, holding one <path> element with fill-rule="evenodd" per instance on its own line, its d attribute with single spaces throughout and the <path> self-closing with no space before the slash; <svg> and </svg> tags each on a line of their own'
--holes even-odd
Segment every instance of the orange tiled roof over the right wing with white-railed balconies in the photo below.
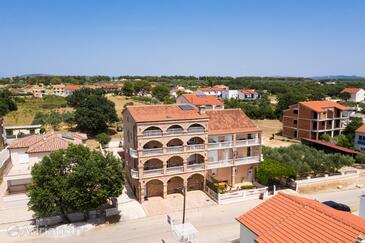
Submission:
<svg viewBox="0 0 365 243">
<path fill-rule="evenodd" d="M 208 134 L 261 131 L 241 109 L 207 111 Z"/>
</svg>

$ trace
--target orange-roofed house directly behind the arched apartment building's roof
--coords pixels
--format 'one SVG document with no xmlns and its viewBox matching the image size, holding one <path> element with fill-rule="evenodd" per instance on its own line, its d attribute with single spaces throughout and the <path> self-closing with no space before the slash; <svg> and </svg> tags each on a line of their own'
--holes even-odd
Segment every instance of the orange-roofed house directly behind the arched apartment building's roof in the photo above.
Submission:
<svg viewBox="0 0 365 243">
<path fill-rule="evenodd" d="M 177 104 L 191 104 L 199 110 L 224 109 L 224 103 L 213 95 L 182 94 L 176 99 Z"/>
</svg>

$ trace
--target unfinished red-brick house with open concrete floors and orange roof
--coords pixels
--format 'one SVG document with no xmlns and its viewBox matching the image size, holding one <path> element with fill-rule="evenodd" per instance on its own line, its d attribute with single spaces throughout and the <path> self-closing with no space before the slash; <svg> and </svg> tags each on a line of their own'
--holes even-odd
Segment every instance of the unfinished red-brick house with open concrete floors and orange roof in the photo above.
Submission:
<svg viewBox="0 0 365 243">
<path fill-rule="evenodd" d="M 283 112 L 283 136 L 318 140 L 341 134 L 349 122 L 349 108 L 332 101 L 306 101 Z"/>
</svg>

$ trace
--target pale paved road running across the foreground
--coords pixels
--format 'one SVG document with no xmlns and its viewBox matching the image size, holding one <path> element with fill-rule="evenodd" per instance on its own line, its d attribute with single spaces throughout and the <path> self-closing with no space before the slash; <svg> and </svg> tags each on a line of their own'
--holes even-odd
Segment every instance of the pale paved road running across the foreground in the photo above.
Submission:
<svg viewBox="0 0 365 243">
<path fill-rule="evenodd" d="M 359 198 L 364 189 L 342 192 L 303 195 L 319 201 L 334 200 L 346 203 L 354 208 L 359 206 Z M 235 217 L 260 204 L 262 201 L 247 201 L 228 205 L 215 205 L 187 212 L 187 222 L 191 222 L 199 230 L 200 242 L 232 242 L 239 237 L 239 223 Z M 172 214 L 173 218 L 181 219 L 181 212 Z M 6 234 L 6 232 L 4 232 Z M 1 239 L 1 235 L 0 235 Z M 147 217 L 114 225 L 95 227 L 79 236 L 67 238 L 50 238 L 46 236 L 32 239 L 7 238 L 22 242 L 172 242 L 170 227 L 166 215 Z M 1 241 L 1 240 L 0 240 Z"/>
</svg>

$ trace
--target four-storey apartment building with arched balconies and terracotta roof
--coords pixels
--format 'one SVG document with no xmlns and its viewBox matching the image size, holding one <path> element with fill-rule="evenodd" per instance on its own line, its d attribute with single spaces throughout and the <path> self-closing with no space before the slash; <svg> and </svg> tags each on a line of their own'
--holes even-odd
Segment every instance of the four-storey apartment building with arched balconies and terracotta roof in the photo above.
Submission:
<svg viewBox="0 0 365 243">
<path fill-rule="evenodd" d="M 138 200 L 253 182 L 261 131 L 240 109 L 199 111 L 190 104 L 128 106 L 123 111 L 127 180 Z"/>
</svg>

